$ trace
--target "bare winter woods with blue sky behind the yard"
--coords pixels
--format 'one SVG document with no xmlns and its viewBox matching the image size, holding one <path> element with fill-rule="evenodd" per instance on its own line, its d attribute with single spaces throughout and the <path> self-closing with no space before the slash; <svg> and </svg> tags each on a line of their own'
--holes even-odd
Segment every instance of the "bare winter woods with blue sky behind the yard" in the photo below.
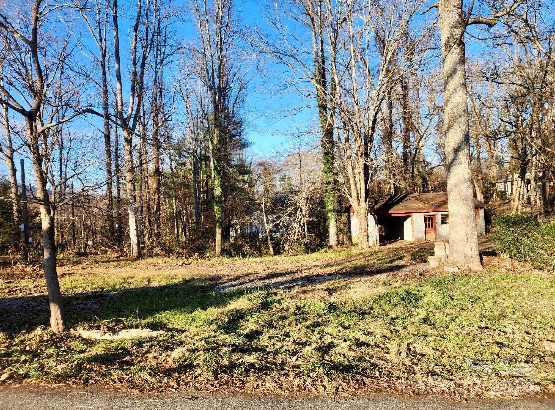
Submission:
<svg viewBox="0 0 555 410">
<path fill-rule="evenodd" d="M 552 2 L 0 6 L 2 240 L 42 251 L 51 309 L 60 250 L 334 248 L 347 204 L 366 248 L 372 194 L 448 191 L 450 258 L 479 269 L 474 196 L 552 213 Z M 264 116 L 296 122 L 261 156 Z"/>
</svg>

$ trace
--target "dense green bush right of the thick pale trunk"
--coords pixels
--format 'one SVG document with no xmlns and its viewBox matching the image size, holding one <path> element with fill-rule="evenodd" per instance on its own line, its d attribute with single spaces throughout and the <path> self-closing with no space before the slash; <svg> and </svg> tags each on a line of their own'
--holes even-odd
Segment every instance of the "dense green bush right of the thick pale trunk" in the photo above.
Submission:
<svg viewBox="0 0 555 410">
<path fill-rule="evenodd" d="M 555 222 L 540 225 L 537 218 L 516 214 L 493 218 L 493 243 L 499 252 L 539 269 L 553 269 Z"/>
</svg>

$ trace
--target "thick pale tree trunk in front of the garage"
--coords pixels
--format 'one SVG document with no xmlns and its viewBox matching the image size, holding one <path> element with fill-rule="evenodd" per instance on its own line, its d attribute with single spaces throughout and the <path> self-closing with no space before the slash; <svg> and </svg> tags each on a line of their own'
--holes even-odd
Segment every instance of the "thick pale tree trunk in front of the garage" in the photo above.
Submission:
<svg viewBox="0 0 555 410">
<path fill-rule="evenodd" d="M 445 106 L 445 153 L 450 214 L 449 263 L 480 270 L 478 234 L 472 188 L 468 96 L 466 88 L 466 19 L 460 0 L 440 0 L 438 27 L 441 34 L 443 104 Z"/>
</svg>

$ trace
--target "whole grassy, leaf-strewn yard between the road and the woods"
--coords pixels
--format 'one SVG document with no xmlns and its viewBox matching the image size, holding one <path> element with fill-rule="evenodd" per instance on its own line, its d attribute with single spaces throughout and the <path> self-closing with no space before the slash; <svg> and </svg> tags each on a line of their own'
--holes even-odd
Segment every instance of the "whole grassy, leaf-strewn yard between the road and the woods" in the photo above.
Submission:
<svg viewBox="0 0 555 410">
<path fill-rule="evenodd" d="M 553 276 L 423 270 L 413 259 L 426 252 L 397 245 L 253 259 L 62 258 L 72 329 L 166 331 L 124 341 L 45 331 L 39 270 L 4 269 L 0 375 L 148 391 L 552 393 Z"/>
</svg>

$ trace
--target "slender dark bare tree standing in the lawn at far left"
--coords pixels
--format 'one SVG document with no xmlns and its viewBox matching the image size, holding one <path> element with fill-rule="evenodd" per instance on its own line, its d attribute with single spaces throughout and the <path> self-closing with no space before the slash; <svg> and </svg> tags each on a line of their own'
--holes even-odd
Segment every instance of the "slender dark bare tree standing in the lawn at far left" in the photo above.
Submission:
<svg viewBox="0 0 555 410">
<path fill-rule="evenodd" d="M 4 84 L 0 85 L 0 102 L 21 115 L 25 124 L 25 139 L 33 162 L 37 199 L 41 211 L 43 236 L 43 270 L 46 276 L 48 299 L 50 303 L 50 324 L 54 331 L 64 328 L 62 298 L 56 271 L 56 239 L 54 234 L 54 214 L 56 204 L 52 202 L 48 192 L 48 166 L 45 163 L 48 155 L 48 137 L 51 131 L 65 122 L 82 115 L 86 109 L 67 110 L 66 104 L 53 107 L 51 122 L 45 123 L 44 102 L 48 87 L 52 81 L 59 80 L 61 63 L 64 61 L 65 48 L 51 48 L 44 53 L 43 47 L 48 42 L 42 37 L 43 20 L 56 6 L 42 7 L 43 0 L 34 0 L 30 9 L 22 9 L 21 13 L 0 14 L 0 28 L 7 56 L 4 61 Z M 24 16 L 18 21 L 16 16 Z M 47 45 L 45 45 L 47 44 Z M 45 55 L 51 57 L 52 66 L 43 70 Z M 27 58 L 29 56 L 29 58 Z M 53 62 L 52 62 L 53 61 Z M 58 78 L 56 78 L 58 76 Z M 59 82 L 59 81 L 58 81 Z M 78 85 L 78 84 L 77 84 Z M 69 93 L 71 95 L 71 93 Z M 17 96 L 23 96 L 17 98 Z M 74 94 L 73 94 L 74 95 Z M 65 115 L 62 115 L 64 113 Z"/>
</svg>

